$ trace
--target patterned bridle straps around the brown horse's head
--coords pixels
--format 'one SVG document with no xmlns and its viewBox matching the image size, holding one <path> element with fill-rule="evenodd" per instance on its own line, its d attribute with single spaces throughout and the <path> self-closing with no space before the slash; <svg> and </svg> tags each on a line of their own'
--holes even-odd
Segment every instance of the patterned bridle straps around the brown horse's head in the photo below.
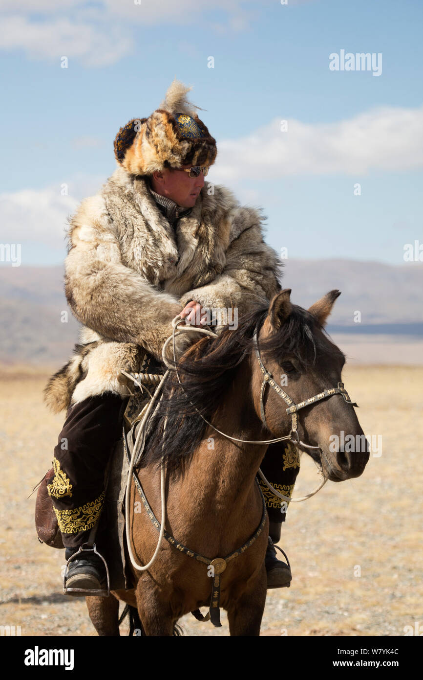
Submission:
<svg viewBox="0 0 423 680">
<path fill-rule="evenodd" d="M 315 394 L 314 396 L 310 396 L 310 398 L 306 399 L 305 401 L 300 401 L 298 404 L 295 404 L 289 394 L 287 392 L 284 392 L 280 385 L 278 385 L 274 381 L 274 377 L 270 371 L 268 371 L 265 368 L 265 365 L 263 364 L 263 361 L 261 360 L 260 356 L 260 350 L 259 350 L 259 342 L 258 342 L 258 327 L 255 328 L 254 331 L 254 348 L 255 348 L 255 353 L 257 355 L 257 359 L 259 360 L 259 366 L 261 369 L 261 373 L 263 373 L 263 381 L 261 383 L 261 388 L 260 388 L 260 414 L 261 414 L 261 422 L 263 425 L 270 430 L 266 419 L 265 419 L 265 413 L 264 413 L 264 404 L 263 404 L 263 395 L 264 395 L 264 390 L 265 386 L 269 385 L 271 388 L 274 389 L 276 394 L 278 394 L 285 403 L 288 404 L 287 408 L 287 413 L 291 415 L 291 431 L 289 432 L 288 439 L 291 441 L 293 444 L 300 445 L 300 446 L 305 446 L 308 449 L 320 449 L 320 446 L 312 446 L 310 444 L 305 444 L 304 441 L 300 441 L 299 439 L 299 434 L 298 434 L 298 416 L 297 416 L 297 411 L 299 409 L 304 409 L 306 406 L 310 406 L 310 404 L 316 403 L 316 401 L 321 401 L 322 399 L 326 399 L 329 396 L 333 396 L 333 394 L 342 394 L 344 397 L 344 400 L 346 401 L 347 404 L 350 404 L 351 406 L 356 406 L 358 407 L 358 404 L 354 401 L 352 402 L 350 399 L 350 396 L 348 395 L 348 392 L 344 388 L 344 383 L 339 382 L 337 384 L 337 387 L 331 387 L 329 390 L 323 390 L 323 392 L 319 392 L 318 394 Z M 271 430 L 270 430 L 271 431 Z M 293 438 L 295 435 L 295 439 Z"/>
</svg>

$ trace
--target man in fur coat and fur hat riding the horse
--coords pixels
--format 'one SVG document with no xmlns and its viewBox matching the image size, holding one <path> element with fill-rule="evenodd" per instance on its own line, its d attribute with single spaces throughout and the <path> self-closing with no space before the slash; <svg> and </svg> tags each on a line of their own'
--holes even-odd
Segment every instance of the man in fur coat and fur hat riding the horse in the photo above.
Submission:
<svg viewBox="0 0 423 680">
<path fill-rule="evenodd" d="M 130 394 L 122 370 L 138 373 L 146 352 L 161 365 L 178 313 L 199 326 L 207 308 L 237 307 L 239 318 L 280 290 L 281 263 L 263 241 L 261 216 L 227 188 L 204 186 L 217 148 L 187 101 L 189 89 L 174 80 L 159 109 L 120 129 L 117 169 L 70 223 L 65 292 L 84 327 L 74 356 L 45 388 L 55 412 L 67 409 L 47 480 L 67 559 L 90 539 L 103 507 L 105 467 Z M 197 333 L 177 337 L 178 356 L 197 339 Z M 266 476 L 269 464 L 270 471 L 281 470 L 284 448 L 274 446 Z M 289 489 L 276 486 L 287 493 L 293 481 Z M 278 541 L 284 517 L 275 500 L 271 536 Z M 269 587 L 289 585 L 291 573 L 272 541 L 266 567 Z M 95 556 L 69 564 L 69 588 L 89 594 L 103 579 Z"/>
</svg>

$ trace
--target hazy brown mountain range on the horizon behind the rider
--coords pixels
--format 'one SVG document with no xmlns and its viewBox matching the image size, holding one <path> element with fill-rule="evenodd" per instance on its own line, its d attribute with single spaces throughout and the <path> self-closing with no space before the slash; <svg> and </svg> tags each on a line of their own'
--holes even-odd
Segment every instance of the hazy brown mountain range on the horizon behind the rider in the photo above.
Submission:
<svg viewBox="0 0 423 680">
<path fill-rule="evenodd" d="M 338 288 L 329 333 L 423 337 L 423 264 L 285 260 L 284 288 L 308 307 Z M 354 322 L 361 314 L 361 322 Z M 63 267 L 0 267 L 0 361 L 59 367 L 78 339 L 63 290 Z"/>
</svg>

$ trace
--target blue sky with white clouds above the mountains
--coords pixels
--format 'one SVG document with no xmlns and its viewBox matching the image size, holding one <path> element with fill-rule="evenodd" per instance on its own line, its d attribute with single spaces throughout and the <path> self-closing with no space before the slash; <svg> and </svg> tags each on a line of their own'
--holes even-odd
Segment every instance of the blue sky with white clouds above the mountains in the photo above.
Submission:
<svg viewBox="0 0 423 680">
<path fill-rule="evenodd" d="M 0 0 L 0 17 L 0 243 L 22 265 L 62 263 L 117 131 L 175 77 L 217 140 L 206 181 L 260 207 L 282 256 L 403 265 L 423 244 L 421 0 Z"/>
</svg>

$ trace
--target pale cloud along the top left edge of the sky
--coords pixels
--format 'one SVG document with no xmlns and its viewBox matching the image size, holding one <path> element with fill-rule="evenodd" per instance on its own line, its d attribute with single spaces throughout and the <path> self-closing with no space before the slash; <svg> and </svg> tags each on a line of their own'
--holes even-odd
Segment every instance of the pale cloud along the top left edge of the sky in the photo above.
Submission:
<svg viewBox="0 0 423 680">
<path fill-rule="evenodd" d="M 265 0 L 268 3 L 270 0 Z M 0 0 L 2 31 L 0 50 L 23 50 L 30 58 L 60 59 L 67 56 L 86 66 L 105 66 L 134 53 L 134 24 L 176 24 L 185 27 L 204 14 L 223 12 L 225 25 L 238 32 L 246 29 L 257 10 L 253 0 L 103 0 L 90 3 L 69 0 Z M 210 22 L 210 29 L 221 24 Z"/>
</svg>

